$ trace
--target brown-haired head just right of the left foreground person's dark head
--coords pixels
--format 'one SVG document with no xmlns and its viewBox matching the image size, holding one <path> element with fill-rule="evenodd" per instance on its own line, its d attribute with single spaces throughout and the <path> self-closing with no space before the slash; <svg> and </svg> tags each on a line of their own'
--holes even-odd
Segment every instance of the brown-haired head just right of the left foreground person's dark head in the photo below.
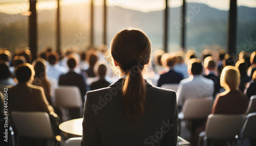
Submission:
<svg viewBox="0 0 256 146">
<path fill-rule="evenodd" d="M 33 64 L 35 70 L 34 78 L 40 78 L 44 80 L 46 78 L 46 61 L 41 58 L 37 58 Z"/>
</svg>

